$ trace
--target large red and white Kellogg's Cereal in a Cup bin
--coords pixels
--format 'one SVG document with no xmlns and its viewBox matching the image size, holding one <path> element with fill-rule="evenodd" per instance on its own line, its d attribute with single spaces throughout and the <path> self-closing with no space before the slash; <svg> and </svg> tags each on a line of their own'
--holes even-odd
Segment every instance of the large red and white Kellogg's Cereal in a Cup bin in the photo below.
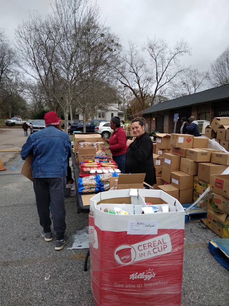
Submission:
<svg viewBox="0 0 229 306">
<path fill-rule="evenodd" d="M 117 207 L 128 214 L 104 212 Z M 184 218 L 180 202 L 162 190 L 124 189 L 93 196 L 89 248 L 95 305 L 180 305 Z"/>
</svg>

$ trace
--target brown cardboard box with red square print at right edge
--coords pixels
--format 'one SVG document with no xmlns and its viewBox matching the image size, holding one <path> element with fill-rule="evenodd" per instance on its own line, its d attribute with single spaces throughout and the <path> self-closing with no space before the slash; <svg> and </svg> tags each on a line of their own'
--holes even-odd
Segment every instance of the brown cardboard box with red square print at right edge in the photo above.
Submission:
<svg viewBox="0 0 229 306">
<path fill-rule="evenodd" d="M 229 174 L 211 175 L 210 190 L 229 198 Z"/>
</svg>

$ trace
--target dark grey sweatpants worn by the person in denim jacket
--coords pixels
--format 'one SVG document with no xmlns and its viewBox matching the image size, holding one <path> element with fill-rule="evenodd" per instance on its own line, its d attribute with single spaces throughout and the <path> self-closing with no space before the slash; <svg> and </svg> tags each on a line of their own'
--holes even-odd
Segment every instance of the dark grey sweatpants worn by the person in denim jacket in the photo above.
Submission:
<svg viewBox="0 0 229 306">
<path fill-rule="evenodd" d="M 51 231 L 49 205 L 52 203 L 53 229 L 56 240 L 64 238 L 66 230 L 64 195 L 66 190 L 66 177 L 40 177 L 34 178 L 33 188 L 36 196 L 37 211 L 40 225 L 44 232 Z"/>
</svg>

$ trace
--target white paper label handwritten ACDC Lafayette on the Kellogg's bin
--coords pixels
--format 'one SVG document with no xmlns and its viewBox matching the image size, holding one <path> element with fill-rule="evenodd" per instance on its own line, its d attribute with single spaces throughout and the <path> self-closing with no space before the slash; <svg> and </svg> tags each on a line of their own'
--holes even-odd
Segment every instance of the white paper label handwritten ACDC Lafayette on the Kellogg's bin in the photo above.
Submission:
<svg viewBox="0 0 229 306">
<path fill-rule="evenodd" d="M 158 221 L 128 221 L 128 235 L 157 235 Z"/>
</svg>

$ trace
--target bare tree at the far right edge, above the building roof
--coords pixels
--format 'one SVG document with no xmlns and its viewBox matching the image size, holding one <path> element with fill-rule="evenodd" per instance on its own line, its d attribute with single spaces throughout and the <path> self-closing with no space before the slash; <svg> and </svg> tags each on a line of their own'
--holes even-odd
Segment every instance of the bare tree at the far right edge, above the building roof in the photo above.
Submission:
<svg viewBox="0 0 229 306">
<path fill-rule="evenodd" d="M 213 87 L 229 83 L 229 46 L 211 63 L 209 82 Z"/>
</svg>

